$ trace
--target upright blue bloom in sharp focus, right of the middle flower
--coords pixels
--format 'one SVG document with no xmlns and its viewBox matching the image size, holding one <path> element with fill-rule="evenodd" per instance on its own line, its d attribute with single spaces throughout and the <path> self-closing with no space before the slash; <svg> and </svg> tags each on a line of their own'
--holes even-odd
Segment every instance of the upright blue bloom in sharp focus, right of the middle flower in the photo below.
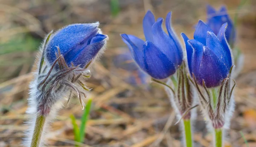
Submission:
<svg viewBox="0 0 256 147">
<path fill-rule="evenodd" d="M 208 25 L 199 20 L 194 39 L 189 40 L 181 34 L 186 43 L 189 71 L 191 75 L 194 73 L 198 84 L 203 85 L 204 80 L 207 88 L 220 85 L 232 66 L 226 29 L 227 23 L 224 23 L 216 36 Z"/>
</svg>

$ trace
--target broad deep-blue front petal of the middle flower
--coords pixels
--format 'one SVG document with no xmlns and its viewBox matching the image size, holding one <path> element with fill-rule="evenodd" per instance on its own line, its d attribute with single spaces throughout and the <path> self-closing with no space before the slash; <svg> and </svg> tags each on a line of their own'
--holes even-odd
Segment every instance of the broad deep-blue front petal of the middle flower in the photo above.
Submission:
<svg viewBox="0 0 256 147">
<path fill-rule="evenodd" d="M 175 73 L 172 61 L 152 42 L 147 41 L 143 46 L 145 72 L 155 79 L 165 79 Z"/>
</svg>

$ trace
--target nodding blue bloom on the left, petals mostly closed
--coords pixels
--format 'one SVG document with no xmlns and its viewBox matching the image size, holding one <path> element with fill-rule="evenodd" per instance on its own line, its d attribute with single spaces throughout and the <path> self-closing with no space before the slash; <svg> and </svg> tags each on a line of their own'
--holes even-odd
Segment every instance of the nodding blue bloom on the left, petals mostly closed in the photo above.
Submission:
<svg viewBox="0 0 256 147">
<path fill-rule="evenodd" d="M 68 25 L 51 35 L 46 45 L 46 58 L 50 64 L 58 53 L 57 47 L 68 66 L 71 63 L 83 68 L 89 63 L 106 43 L 107 35 L 101 34 L 99 23 Z"/>
</svg>

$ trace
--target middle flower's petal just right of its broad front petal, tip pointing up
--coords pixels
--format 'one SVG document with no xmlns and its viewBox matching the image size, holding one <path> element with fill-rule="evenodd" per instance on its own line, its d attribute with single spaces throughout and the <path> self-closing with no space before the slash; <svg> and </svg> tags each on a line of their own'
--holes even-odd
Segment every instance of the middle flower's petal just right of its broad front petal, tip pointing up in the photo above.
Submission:
<svg viewBox="0 0 256 147">
<path fill-rule="evenodd" d="M 159 19 L 152 26 L 152 33 L 154 38 L 154 45 L 168 57 L 177 68 L 178 63 L 176 59 L 177 49 L 175 42 L 163 31 L 163 18 Z"/>
</svg>

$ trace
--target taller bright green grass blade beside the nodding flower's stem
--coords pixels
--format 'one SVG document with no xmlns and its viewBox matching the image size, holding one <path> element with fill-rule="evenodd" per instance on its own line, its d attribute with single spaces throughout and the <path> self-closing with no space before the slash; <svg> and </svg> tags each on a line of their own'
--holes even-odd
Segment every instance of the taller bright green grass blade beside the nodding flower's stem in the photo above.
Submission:
<svg viewBox="0 0 256 147">
<path fill-rule="evenodd" d="M 80 126 L 80 142 L 84 142 L 84 133 L 85 127 L 88 120 L 88 115 L 90 114 L 90 107 L 92 104 L 92 99 L 89 99 L 84 110 L 84 114 L 81 118 L 81 126 Z"/>
</svg>

